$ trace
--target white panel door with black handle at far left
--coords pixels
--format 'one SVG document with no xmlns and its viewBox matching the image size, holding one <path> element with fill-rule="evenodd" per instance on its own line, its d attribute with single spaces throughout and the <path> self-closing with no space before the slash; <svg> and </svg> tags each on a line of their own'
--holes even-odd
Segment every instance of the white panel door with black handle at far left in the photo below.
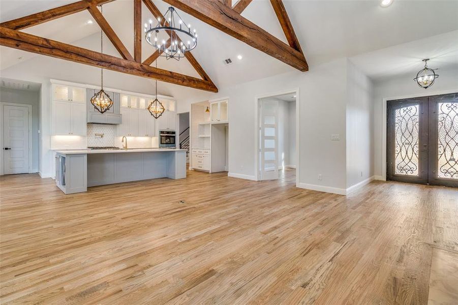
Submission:
<svg viewBox="0 0 458 305">
<path fill-rule="evenodd" d="M 3 107 L 4 174 L 28 173 L 28 108 Z"/>
</svg>

